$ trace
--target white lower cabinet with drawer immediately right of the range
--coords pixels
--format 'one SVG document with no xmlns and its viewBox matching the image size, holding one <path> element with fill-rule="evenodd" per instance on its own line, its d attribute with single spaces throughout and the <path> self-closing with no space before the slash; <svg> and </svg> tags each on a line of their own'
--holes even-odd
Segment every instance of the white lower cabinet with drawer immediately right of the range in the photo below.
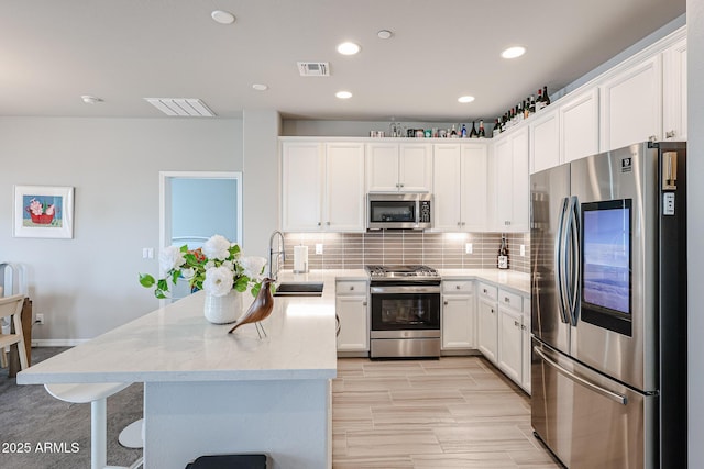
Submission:
<svg viewBox="0 0 704 469">
<path fill-rule="evenodd" d="M 442 350 L 475 347 L 475 301 L 472 280 L 442 282 Z"/>
</svg>

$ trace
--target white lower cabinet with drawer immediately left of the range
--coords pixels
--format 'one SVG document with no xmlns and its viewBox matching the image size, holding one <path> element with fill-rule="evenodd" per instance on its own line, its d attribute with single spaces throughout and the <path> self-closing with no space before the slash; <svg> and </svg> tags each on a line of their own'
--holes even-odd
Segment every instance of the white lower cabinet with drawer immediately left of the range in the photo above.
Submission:
<svg viewBox="0 0 704 469">
<path fill-rule="evenodd" d="M 336 282 L 336 314 L 340 321 L 338 353 L 370 350 L 367 283 L 363 280 Z"/>
</svg>

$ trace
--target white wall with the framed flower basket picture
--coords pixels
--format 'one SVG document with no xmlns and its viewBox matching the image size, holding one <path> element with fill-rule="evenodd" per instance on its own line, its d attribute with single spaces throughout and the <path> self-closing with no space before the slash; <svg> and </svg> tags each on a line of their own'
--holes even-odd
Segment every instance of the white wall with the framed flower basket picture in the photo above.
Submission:
<svg viewBox="0 0 704 469">
<path fill-rule="evenodd" d="M 242 170 L 242 121 L 0 119 L 0 261 L 29 267 L 34 338 L 91 338 L 154 310 L 160 170 Z M 13 185 L 75 187 L 73 239 L 12 237 Z"/>
</svg>

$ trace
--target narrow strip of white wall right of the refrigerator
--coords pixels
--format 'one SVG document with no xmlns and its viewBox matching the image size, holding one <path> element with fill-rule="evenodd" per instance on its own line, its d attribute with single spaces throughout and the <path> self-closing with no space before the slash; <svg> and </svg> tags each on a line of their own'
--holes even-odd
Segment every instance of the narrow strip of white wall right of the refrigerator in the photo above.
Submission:
<svg viewBox="0 0 704 469">
<path fill-rule="evenodd" d="M 704 0 L 688 0 L 688 289 L 689 289 L 689 467 L 704 461 Z"/>
</svg>

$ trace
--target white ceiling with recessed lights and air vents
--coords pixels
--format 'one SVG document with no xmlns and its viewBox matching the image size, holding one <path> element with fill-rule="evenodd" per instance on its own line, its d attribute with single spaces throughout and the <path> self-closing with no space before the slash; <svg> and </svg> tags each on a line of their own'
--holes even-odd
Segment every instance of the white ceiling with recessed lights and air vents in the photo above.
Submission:
<svg viewBox="0 0 704 469">
<path fill-rule="evenodd" d="M 685 0 L 0 0 L 0 115 L 163 118 L 143 98 L 200 98 L 223 118 L 493 120 L 684 11 Z M 342 41 L 361 53 L 341 56 Z M 499 58 L 515 44 L 527 54 Z M 329 62 L 331 76 L 300 77 L 299 60 Z M 353 98 L 334 98 L 342 89 Z"/>
</svg>

